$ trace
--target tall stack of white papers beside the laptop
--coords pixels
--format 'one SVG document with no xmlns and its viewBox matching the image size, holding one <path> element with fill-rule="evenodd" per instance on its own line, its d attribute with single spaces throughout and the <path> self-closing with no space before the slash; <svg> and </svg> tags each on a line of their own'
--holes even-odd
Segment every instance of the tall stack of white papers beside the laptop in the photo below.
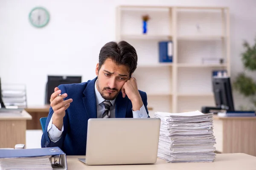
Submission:
<svg viewBox="0 0 256 170">
<path fill-rule="evenodd" d="M 157 156 L 169 162 L 212 162 L 215 136 L 212 113 L 156 112 L 161 119 Z"/>
</svg>

